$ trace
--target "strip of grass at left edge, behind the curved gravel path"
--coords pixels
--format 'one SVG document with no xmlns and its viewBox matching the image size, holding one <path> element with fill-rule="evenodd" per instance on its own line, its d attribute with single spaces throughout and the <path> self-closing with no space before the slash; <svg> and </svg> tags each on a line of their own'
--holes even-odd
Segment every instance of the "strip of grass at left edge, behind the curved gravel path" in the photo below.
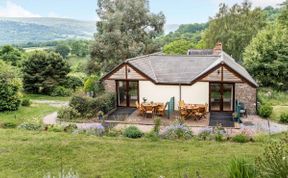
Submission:
<svg viewBox="0 0 288 178">
<path fill-rule="evenodd" d="M 22 106 L 18 111 L 1 112 L 0 123 L 10 122 L 19 125 L 32 118 L 42 119 L 45 115 L 54 111 L 57 111 L 57 108 L 46 104 L 32 104 L 30 107 Z"/>
</svg>

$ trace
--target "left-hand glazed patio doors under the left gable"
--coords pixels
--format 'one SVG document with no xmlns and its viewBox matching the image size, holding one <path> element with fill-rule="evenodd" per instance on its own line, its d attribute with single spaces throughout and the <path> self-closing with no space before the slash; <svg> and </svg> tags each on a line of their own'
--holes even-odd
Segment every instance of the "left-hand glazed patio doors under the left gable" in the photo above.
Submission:
<svg viewBox="0 0 288 178">
<path fill-rule="evenodd" d="M 119 80 L 116 81 L 117 106 L 136 107 L 139 98 L 138 81 Z"/>
</svg>

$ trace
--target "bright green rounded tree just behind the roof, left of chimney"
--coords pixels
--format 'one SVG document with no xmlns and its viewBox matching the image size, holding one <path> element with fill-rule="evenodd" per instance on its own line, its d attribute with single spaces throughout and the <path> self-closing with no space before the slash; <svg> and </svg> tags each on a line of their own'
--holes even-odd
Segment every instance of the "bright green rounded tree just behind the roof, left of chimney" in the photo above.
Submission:
<svg viewBox="0 0 288 178">
<path fill-rule="evenodd" d="M 164 46 L 163 52 L 165 54 L 187 54 L 188 49 L 195 46 L 192 41 L 176 40 Z"/>
</svg>

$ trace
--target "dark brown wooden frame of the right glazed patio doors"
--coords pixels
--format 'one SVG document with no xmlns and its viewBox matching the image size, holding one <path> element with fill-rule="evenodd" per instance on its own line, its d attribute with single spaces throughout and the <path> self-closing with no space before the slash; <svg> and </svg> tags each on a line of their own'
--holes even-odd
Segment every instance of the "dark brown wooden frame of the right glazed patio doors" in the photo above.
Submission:
<svg viewBox="0 0 288 178">
<path fill-rule="evenodd" d="M 220 101 L 220 110 L 219 111 L 212 111 L 211 110 L 211 84 L 213 83 L 216 83 L 216 84 L 220 84 L 220 95 L 221 95 L 221 101 Z M 232 84 L 233 86 L 233 101 L 232 101 L 232 111 L 224 111 L 223 110 L 223 89 L 224 89 L 224 84 Z M 209 112 L 234 112 L 234 106 L 235 105 L 235 83 L 233 82 L 218 82 L 218 81 L 215 81 L 215 82 L 209 82 Z"/>
</svg>

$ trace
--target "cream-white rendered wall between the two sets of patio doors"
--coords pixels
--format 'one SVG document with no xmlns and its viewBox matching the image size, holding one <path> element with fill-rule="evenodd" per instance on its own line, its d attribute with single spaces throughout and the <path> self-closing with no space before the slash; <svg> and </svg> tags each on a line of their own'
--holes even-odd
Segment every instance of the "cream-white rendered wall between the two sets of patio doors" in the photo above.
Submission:
<svg viewBox="0 0 288 178">
<path fill-rule="evenodd" d="M 185 103 L 205 104 L 209 103 L 209 83 L 197 82 L 191 86 L 181 86 L 182 100 Z M 180 87 L 178 85 L 155 85 L 150 81 L 139 81 L 139 100 L 143 97 L 147 101 L 166 103 L 171 97 L 175 97 L 175 109 L 178 109 L 180 99 Z"/>
</svg>

